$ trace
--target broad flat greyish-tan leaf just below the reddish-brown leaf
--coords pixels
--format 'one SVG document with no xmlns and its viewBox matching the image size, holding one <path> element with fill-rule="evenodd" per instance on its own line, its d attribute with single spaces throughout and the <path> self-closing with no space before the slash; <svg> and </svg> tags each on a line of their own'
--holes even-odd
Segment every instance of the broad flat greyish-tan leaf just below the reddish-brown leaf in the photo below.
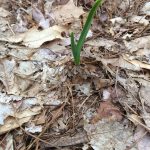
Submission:
<svg viewBox="0 0 150 150">
<path fill-rule="evenodd" d="M 137 150 L 132 129 L 120 122 L 103 119 L 96 124 L 85 123 L 84 129 L 94 150 L 126 150 L 127 147 Z"/>
</svg>

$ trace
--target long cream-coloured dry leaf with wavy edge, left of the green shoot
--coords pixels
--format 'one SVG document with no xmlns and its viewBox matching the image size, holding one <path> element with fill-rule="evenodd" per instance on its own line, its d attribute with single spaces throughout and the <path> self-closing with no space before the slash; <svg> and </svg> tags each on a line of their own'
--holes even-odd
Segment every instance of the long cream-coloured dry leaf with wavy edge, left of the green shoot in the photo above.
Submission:
<svg viewBox="0 0 150 150">
<path fill-rule="evenodd" d="M 1 37 L 0 40 L 11 43 L 23 42 L 23 45 L 30 48 L 38 48 L 44 42 L 52 41 L 57 38 L 62 39 L 61 33 L 64 31 L 66 31 L 66 28 L 61 26 L 53 26 L 42 31 L 33 28 L 26 33 L 16 34 L 11 37 Z"/>
</svg>

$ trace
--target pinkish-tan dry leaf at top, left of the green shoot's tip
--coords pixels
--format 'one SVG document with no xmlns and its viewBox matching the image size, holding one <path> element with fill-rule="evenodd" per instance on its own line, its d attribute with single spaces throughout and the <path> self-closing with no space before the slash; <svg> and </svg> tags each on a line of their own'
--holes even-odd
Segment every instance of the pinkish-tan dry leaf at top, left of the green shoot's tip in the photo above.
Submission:
<svg viewBox="0 0 150 150">
<path fill-rule="evenodd" d="M 75 6 L 73 0 L 70 0 L 66 5 L 53 7 L 50 16 L 56 24 L 67 24 L 78 20 L 84 13 L 82 7 Z"/>
</svg>

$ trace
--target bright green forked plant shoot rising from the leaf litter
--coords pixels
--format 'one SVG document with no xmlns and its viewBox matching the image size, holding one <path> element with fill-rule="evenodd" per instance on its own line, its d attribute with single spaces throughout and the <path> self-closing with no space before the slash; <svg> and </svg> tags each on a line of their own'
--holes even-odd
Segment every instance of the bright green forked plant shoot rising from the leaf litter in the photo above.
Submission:
<svg viewBox="0 0 150 150">
<path fill-rule="evenodd" d="M 92 19 L 93 19 L 95 13 L 96 13 L 97 8 L 101 5 L 101 2 L 102 2 L 102 0 L 96 0 L 93 7 L 91 8 L 78 42 L 75 41 L 74 33 L 73 32 L 71 33 L 71 49 L 72 49 L 72 54 L 73 54 L 73 57 L 74 57 L 75 65 L 80 65 L 81 49 L 83 47 L 83 44 L 84 44 L 84 41 L 86 39 L 87 33 L 90 29 Z"/>
</svg>

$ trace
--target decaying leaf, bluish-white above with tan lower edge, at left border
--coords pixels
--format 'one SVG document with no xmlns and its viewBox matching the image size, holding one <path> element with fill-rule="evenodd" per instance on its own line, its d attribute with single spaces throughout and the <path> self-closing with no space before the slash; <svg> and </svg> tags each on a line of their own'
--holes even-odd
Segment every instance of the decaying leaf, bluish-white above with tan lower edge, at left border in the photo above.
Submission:
<svg viewBox="0 0 150 150">
<path fill-rule="evenodd" d="M 36 106 L 39 104 L 36 98 L 25 99 L 1 93 L 0 100 L 0 134 L 28 122 L 32 116 L 41 111 L 41 107 Z"/>
</svg>

